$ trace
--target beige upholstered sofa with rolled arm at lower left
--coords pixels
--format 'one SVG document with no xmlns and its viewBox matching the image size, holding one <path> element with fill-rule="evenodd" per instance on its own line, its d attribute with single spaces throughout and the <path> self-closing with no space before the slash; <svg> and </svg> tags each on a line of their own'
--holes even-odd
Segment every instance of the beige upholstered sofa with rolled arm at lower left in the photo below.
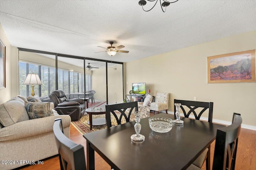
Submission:
<svg viewBox="0 0 256 170">
<path fill-rule="evenodd" d="M 30 119 L 24 99 L 18 96 L 0 104 L 0 160 L 5 161 L 1 162 L 0 169 L 34 164 L 58 154 L 52 129 L 54 119 L 59 117 L 64 134 L 70 137 L 69 115 L 58 115 L 55 111 L 54 116 Z"/>
</svg>

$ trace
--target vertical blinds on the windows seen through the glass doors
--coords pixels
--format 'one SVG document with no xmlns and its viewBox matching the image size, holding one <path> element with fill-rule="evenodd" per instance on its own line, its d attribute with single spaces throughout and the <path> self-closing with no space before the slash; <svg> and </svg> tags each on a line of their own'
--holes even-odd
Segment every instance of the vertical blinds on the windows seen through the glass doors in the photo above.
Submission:
<svg viewBox="0 0 256 170">
<path fill-rule="evenodd" d="M 53 90 L 56 90 L 54 67 L 19 61 L 19 94 L 21 96 L 30 96 L 31 94 L 31 85 L 23 85 L 29 73 L 38 74 L 42 82 L 42 85 L 34 86 L 36 96 L 48 97 Z M 91 75 L 86 74 L 86 90 L 84 90 L 84 73 L 58 68 L 58 88 L 63 90 L 65 94 L 91 90 L 91 78 Z"/>
</svg>

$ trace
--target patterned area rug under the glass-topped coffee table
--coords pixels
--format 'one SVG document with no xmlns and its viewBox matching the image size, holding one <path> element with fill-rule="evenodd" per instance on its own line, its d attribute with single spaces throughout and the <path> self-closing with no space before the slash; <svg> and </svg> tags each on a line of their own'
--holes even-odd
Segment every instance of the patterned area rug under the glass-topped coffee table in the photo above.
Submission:
<svg viewBox="0 0 256 170">
<path fill-rule="evenodd" d="M 116 112 L 116 111 L 115 111 Z M 120 112 L 116 112 L 116 115 L 119 117 L 120 116 Z M 96 118 L 105 118 L 106 115 L 92 115 L 92 119 L 96 119 Z M 130 116 L 130 121 L 134 120 L 135 116 L 133 114 L 131 114 Z M 72 125 L 78 129 L 78 131 L 83 135 L 85 133 L 90 133 L 93 131 L 98 131 L 100 129 L 106 129 L 107 125 L 99 125 L 99 126 L 92 126 L 92 130 L 90 130 L 90 125 L 87 123 L 89 121 L 89 114 L 84 114 L 83 117 L 81 117 L 81 119 L 79 119 L 78 121 L 72 121 Z M 126 123 L 125 118 L 122 117 L 121 123 Z M 117 122 L 116 122 L 116 118 L 114 117 L 113 114 L 111 114 L 111 124 L 112 126 L 116 126 Z"/>
</svg>

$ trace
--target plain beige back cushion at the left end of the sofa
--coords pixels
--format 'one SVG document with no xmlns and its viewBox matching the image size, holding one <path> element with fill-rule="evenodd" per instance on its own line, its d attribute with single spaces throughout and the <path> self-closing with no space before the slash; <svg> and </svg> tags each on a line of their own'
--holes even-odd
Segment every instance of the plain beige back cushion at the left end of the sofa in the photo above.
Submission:
<svg viewBox="0 0 256 170">
<path fill-rule="evenodd" d="M 29 120 L 24 101 L 18 97 L 0 104 L 0 123 L 6 127 L 20 121 Z"/>
</svg>

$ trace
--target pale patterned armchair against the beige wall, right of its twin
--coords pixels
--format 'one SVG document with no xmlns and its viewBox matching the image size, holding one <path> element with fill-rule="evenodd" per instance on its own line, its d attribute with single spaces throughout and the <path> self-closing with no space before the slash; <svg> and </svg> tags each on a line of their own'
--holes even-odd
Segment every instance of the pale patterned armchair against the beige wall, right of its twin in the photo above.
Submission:
<svg viewBox="0 0 256 170">
<path fill-rule="evenodd" d="M 169 107 L 169 96 L 170 93 L 157 93 L 156 94 L 156 102 L 152 102 L 150 105 L 150 110 L 154 110 L 159 113 L 161 110 L 165 110 L 167 114 L 167 110 Z"/>
</svg>

